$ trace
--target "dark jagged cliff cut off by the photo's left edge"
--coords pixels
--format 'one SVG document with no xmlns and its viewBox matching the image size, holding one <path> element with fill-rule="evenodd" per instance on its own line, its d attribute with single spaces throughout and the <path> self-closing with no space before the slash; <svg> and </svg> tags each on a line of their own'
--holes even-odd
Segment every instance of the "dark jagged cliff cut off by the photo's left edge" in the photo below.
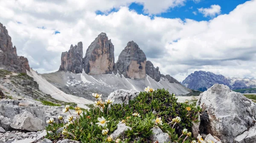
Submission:
<svg viewBox="0 0 256 143">
<path fill-rule="evenodd" d="M 0 68 L 15 73 L 26 73 L 30 70 L 28 60 L 17 56 L 16 47 L 12 47 L 11 37 L 0 23 Z"/>
</svg>

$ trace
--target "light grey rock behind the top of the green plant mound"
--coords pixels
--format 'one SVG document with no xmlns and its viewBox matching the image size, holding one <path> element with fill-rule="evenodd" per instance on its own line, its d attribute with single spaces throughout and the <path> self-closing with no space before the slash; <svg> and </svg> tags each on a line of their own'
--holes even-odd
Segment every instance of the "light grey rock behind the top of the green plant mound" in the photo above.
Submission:
<svg viewBox="0 0 256 143">
<path fill-rule="evenodd" d="M 113 104 L 128 104 L 129 100 L 133 100 L 139 95 L 139 92 L 130 90 L 115 90 L 108 95 L 108 99 L 114 100 Z"/>
</svg>

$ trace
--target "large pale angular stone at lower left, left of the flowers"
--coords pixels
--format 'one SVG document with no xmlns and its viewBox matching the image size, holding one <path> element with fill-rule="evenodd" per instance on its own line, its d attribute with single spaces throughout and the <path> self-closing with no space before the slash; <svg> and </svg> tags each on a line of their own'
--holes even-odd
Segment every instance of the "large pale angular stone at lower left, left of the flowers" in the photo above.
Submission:
<svg viewBox="0 0 256 143">
<path fill-rule="evenodd" d="M 26 131 L 39 131 L 43 130 L 45 123 L 37 117 L 34 117 L 32 113 L 24 111 L 18 115 L 15 115 L 11 127 L 14 129 L 21 129 Z"/>
</svg>

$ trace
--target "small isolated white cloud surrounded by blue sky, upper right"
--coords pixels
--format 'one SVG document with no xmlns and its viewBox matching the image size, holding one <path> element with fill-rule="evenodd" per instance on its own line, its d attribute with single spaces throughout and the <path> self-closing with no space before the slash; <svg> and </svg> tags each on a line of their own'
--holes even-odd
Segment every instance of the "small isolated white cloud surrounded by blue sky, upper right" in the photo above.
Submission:
<svg viewBox="0 0 256 143">
<path fill-rule="evenodd" d="M 209 8 L 198 8 L 198 12 L 204 14 L 204 17 L 215 17 L 221 14 L 221 6 L 212 5 Z"/>
</svg>

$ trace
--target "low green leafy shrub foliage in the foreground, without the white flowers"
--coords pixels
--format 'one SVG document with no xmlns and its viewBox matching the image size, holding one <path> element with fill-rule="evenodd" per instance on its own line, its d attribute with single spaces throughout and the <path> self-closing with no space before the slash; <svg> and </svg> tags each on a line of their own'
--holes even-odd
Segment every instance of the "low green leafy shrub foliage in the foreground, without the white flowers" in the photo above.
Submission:
<svg viewBox="0 0 256 143">
<path fill-rule="evenodd" d="M 152 96 L 153 95 L 153 100 Z M 104 104 L 105 105 L 105 104 Z M 120 137 L 122 142 L 125 143 L 150 143 L 149 137 L 152 134 L 151 129 L 154 126 L 159 126 L 163 132 L 166 132 L 171 137 L 172 141 L 182 143 L 186 137 L 178 137 L 182 135 L 183 129 L 191 131 L 192 121 L 197 121 L 198 112 L 201 112 L 199 107 L 193 107 L 186 103 L 177 103 L 174 94 L 170 94 L 168 90 L 158 89 L 152 93 L 140 92 L 140 94 L 128 105 L 114 104 L 108 108 L 106 105 L 100 111 L 99 107 L 91 108 L 89 111 L 83 112 L 79 119 L 76 119 L 73 124 L 67 126 L 63 134 L 47 135 L 47 138 L 56 140 L 60 138 L 69 138 L 72 140 L 79 140 L 82 143 L 105 143 L 111 133 L 117 128 L 119 121 L 130 126 L 131 130 L 125 132 L 125 135 Z M 140 117 L 134 116 L 134 113 L 140 114 Z M 98 118 L 104 117 L 107 126 L 98 126 Z M 179 116 L 180 123 L 175 123 L 175 128 L 172 129 L 172 119 Z M 162 125 L 156 125 L 153 120 L 162 118 Z M 47 131 L 55 132 L 62 124 L 56 125 L 55 123 L 47 126 Z M 102 135 L 102 129 L 109 129 L 107 135 Z M 191 137 L 184 143 L 190 143 Z M 115 141 L 112 140 L 111 143 Z"/>
</svg>

